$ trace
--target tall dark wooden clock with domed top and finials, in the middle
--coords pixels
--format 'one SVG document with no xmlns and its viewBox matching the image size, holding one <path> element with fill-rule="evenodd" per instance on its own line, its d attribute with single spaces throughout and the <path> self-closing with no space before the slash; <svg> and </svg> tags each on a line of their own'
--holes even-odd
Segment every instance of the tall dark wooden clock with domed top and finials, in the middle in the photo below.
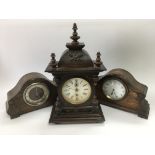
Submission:
<svg viewBox="0 0 155 155">
<path fill-rule="evenodd" d="M 52 60 L 46 72 L 52 73 L 57 84 L 58 97 L 52 109 L 50 123 L 91 123 L 103 122 L 104 116 L 96 97 L 95 86 L 99 80 L 98 74 L 106 68 L 97 53 L 96 61 L 92 61 L 84 50 L 84 43 L 78 42 L 80 37 L 77 26 L 73 24 L 71 43 L 59 61 Z"/>
</svg>

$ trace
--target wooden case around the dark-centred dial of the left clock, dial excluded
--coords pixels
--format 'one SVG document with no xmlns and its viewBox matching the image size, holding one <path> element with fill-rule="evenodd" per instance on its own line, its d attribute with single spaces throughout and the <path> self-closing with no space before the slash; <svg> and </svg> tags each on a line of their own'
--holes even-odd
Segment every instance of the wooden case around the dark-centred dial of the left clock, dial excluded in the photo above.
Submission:
<svg viewBox="0 0 155 155">
<path fill-rule="evenodd" d="M 25 89 L 33 83 L 43 83 L 50 91 L 47 101 L 40 106 L 30 106 L 26 104 L 23 99 L 23 93 Z M 31 95 L 33 96 L 33 92 Z M 53 82 L 49 81 L 44 75 L 40 73 L 29 73 L 24 75 L 19 80 L 17 85 L 7 93 L 6 111 L 13 119 L 19 117 L 22 114 L 51 106 L 56 101 L 56 98 L 57 90 Z"/>
</svg>

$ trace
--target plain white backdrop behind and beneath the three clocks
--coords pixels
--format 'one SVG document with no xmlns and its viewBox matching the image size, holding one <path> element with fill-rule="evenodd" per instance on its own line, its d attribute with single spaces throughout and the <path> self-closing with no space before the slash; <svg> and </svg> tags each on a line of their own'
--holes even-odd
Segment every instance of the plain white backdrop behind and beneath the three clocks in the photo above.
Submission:
<svg viewBox="0 0 155 155">
<path fill-rule="evenodd" d="M 10 120 L 5 111 L 7 92 L 26 73 L 44 73 L 50 53 L 60 58 L 77 22 L 80 41 L 95 59 L 100 51 L 110 71 L 123 68 L 149 87 L 148 120 L 102 106 L 102 124 L 49 125 L 51 107 Z M 155 138 L 155 20 L 1 20 L 0 21 L 0 134 L 102 134 Z M 106 73 L 106 72 L 104 72 Z M 104 74 L 102 73 L 102 74 Z M 88 130 L 89 129 L 89 130 Z"/>
</svg>

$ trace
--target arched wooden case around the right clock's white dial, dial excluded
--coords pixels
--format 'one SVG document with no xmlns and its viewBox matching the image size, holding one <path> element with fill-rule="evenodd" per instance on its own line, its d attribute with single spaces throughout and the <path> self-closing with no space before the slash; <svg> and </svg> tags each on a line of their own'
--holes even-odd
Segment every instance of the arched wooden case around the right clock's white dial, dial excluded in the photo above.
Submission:
<svg viewBox="0 0 155 155">
<path fill-rule="evenodd" d="M 102 90 L 103 82 L 109 78 L 117 78 L 123 81 L 127 87 L 126 96 L 118 101 L 108 99 Z M 145 99 L 147 86 L 139 83 L 128 71 L 123 69 L 113 69 L 106 75 L 100 77 L 96 91 L 100 103 L 117 109 L 138 114 L 139 117 L 148 118 L 149 104 Z"/>
</svg>

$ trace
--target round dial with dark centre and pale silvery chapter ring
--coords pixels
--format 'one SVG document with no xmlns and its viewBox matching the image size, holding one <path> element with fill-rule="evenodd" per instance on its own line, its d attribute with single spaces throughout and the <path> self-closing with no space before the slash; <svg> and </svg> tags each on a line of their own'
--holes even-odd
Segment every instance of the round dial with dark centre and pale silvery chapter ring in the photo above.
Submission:
<svg viewBox="0 0 155 155">
<path fill-rule="evenodd" d="M 45 84 L 33 83 L 25 89 L 23 98 L 28 105 L 39 106 L 47 101 L 49 94 L 49 90 Z"/>
</svg>

